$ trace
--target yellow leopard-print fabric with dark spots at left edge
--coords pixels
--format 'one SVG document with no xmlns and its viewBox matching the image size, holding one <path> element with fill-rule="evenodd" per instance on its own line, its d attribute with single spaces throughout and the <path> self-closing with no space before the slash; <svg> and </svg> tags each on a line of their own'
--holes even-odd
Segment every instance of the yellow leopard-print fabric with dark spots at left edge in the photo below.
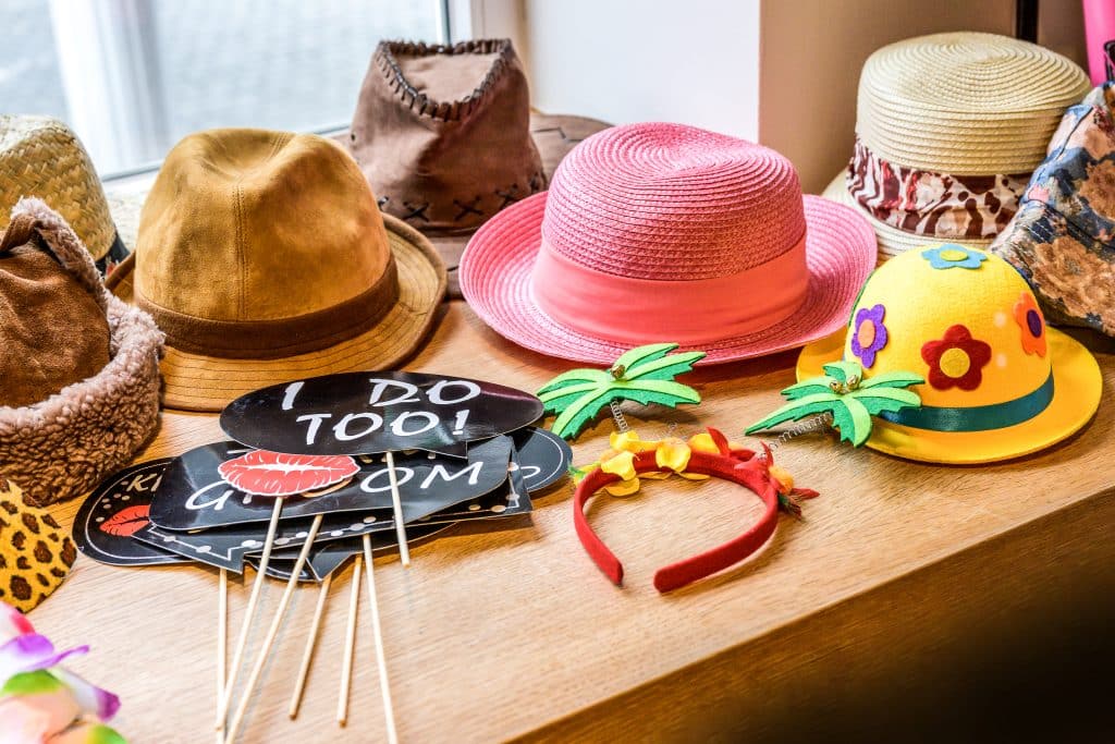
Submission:
<svg viewBox="0 0 1115 744">
<path fill-rule="evenodd" d="M 14 483 L 0 489 L 0 599 L 28 612 L 58 588 L 77 559 L 74 541 Z"/>
</svg>

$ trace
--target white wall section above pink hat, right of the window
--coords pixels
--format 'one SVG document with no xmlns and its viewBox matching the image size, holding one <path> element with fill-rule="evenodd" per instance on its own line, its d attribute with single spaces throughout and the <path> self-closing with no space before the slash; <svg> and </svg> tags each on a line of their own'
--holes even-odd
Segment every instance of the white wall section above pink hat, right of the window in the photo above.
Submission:
<svg viewBox="0 0 1115 744">
<path fill-rule="evenodd" d="M 758 136 L 759 0 L 525 0 L 534 105 Z"/>
</svg>

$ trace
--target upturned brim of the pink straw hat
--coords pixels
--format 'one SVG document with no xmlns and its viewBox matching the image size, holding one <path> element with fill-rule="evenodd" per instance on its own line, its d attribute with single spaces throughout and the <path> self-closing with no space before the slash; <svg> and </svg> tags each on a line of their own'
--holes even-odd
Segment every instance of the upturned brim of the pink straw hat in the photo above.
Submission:
<svg viewBox="0 0 1115 744">
<path fill-rule="evenodd" d="M 534 301 L 531 273 L 542 244 L 546 192 L 503 210 L 481 228 L 460 259 L 460 289 L 496 332 L 541 354 L 611 364 L 636 342 L 588 336 L 550 318 Z M 875 265 L 875 236 L 852 210 L 805 196 L 809 287 L 802 307 L 772 328 L 699 348 L 700 364 L 749 359 L 823 338 L 847 321 L 860 287 Z M 663 338 L 662 341 L 671 339 Z"/>
</svg>

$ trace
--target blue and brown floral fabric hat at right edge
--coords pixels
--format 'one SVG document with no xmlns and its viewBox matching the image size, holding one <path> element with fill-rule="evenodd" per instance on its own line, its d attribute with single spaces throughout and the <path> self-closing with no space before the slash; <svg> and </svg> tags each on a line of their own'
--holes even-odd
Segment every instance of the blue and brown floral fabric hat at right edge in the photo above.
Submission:
<svg viewBox="0 0 1115 744">
<path fill-rule="evenodd" d="M 1065 113 L 1018 215 L 991 247 L 1053 322 L 1115 336 L 1115 83 Z"/>
</svg>

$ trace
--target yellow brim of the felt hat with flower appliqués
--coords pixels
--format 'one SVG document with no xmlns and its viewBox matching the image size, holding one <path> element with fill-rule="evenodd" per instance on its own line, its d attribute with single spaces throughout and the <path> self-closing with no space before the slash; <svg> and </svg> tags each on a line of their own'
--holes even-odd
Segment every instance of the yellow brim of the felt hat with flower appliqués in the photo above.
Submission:
<svg viewBox="0 0 1115 744">
<path fill-rule="evenodd" d="M 844 354 L 846 329 L 802 349 L 798 381 L 824 375 L 822 365 Z M 1021 457 L 1068 438 L 1087 424 L 1099 406 L 1103 375 L 1095 357 L 1076 339 L 1047 328 L 1053 366 L 1053 400 L 1021 424 L 987 432 L 931 432 L 875 422 L 866 445 L 889 455 L 927 463 L 977 465 Z"/>
</svg>

